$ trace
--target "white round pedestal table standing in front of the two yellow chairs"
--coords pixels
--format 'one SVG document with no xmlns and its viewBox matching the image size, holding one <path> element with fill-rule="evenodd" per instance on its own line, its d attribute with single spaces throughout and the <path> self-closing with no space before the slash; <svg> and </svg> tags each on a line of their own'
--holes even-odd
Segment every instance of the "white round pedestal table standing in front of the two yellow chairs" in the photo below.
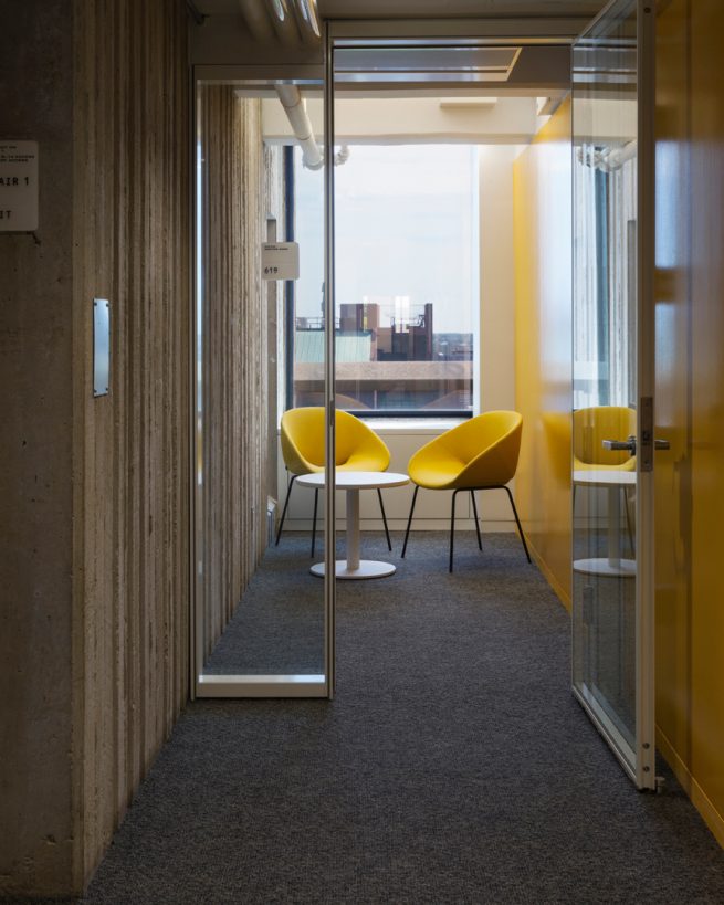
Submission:
<svg viewBox="0 0 724 905">
<path fill-rule="evenodd" d="M 324 472 L 303 474 L 296 478 L 296 483 L 318 490 L 325 486 L 325 475 Z M 359 491 L 402 487 L 409 483 L 406 474 L 395 472 L 335 472 L 335 490 L 347 492 L 347 558 L 337 560 L 337 578 L 384 578 L 395 573 L 391 562 L 359 558 Z M 324 562 L 312 566 L 309 571 L 324 577 Z"/>
</svg>

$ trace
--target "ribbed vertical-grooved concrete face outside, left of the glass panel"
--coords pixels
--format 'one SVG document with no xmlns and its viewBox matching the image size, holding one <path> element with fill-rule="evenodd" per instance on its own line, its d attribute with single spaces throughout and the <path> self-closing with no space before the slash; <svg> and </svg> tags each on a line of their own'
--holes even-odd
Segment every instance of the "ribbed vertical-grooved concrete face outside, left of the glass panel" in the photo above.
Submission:
<svg viewBox="0 0 724 905">
<path fill-rule="evenodd" d="M 190 149 L 186 3 L 74 9 L 74 636 L 86 878 L 188 696 Z M 111 392 L 94 399 L 96 296 L 111 302 L 113 338 Z"/>
</svg>

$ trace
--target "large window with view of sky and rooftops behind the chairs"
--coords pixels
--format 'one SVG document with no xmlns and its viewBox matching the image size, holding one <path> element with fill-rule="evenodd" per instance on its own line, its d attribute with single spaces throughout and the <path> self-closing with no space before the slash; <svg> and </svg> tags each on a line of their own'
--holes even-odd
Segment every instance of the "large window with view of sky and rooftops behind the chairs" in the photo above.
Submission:
<svg viewBox="0 0 724 905">
<path fill-rule="evenodd" d="M 294 406 L 323 398 L 322 178 L 295 149 Z M 476 149 L 354 146 L 335 168 L 335 218 L 337 404 L 361 414 L 471 413 Z"/>
</svg>

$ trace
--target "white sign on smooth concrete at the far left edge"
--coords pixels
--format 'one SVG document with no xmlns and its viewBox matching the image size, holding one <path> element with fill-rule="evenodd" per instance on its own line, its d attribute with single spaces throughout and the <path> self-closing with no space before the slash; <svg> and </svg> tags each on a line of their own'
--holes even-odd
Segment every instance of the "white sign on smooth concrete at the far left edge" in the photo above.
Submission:
<svg viewBox="0 0 724 905">
<path fill-rule="evenodd" d="M 38 229 L 38 141 L 0 139 L 0 232 Z"/>
</svg>

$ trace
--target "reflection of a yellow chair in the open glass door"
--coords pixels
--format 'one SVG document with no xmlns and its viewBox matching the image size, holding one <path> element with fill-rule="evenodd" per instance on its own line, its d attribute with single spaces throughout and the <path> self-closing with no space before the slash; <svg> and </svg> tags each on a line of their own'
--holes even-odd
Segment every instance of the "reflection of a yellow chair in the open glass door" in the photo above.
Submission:
<svg viewBox="0 0 724 905">
<path fill-rule="evenodd" d="M 628 450 L 607 450 L 604 440 L 627 440 L 636 436 L 636 409 L 626 406 L 591 406 L 574 412 L 574 472 L 586 471 L 636 471 L 636 455 Z M 573 506 L 576 508 L 574 481 Z M 631 525 L 631 496 L 633 487 L 621 486 L 626 507 L 626 523 L 629 529 L 631 550 L 634 551 L 633 527 Z"/>
</svg>

